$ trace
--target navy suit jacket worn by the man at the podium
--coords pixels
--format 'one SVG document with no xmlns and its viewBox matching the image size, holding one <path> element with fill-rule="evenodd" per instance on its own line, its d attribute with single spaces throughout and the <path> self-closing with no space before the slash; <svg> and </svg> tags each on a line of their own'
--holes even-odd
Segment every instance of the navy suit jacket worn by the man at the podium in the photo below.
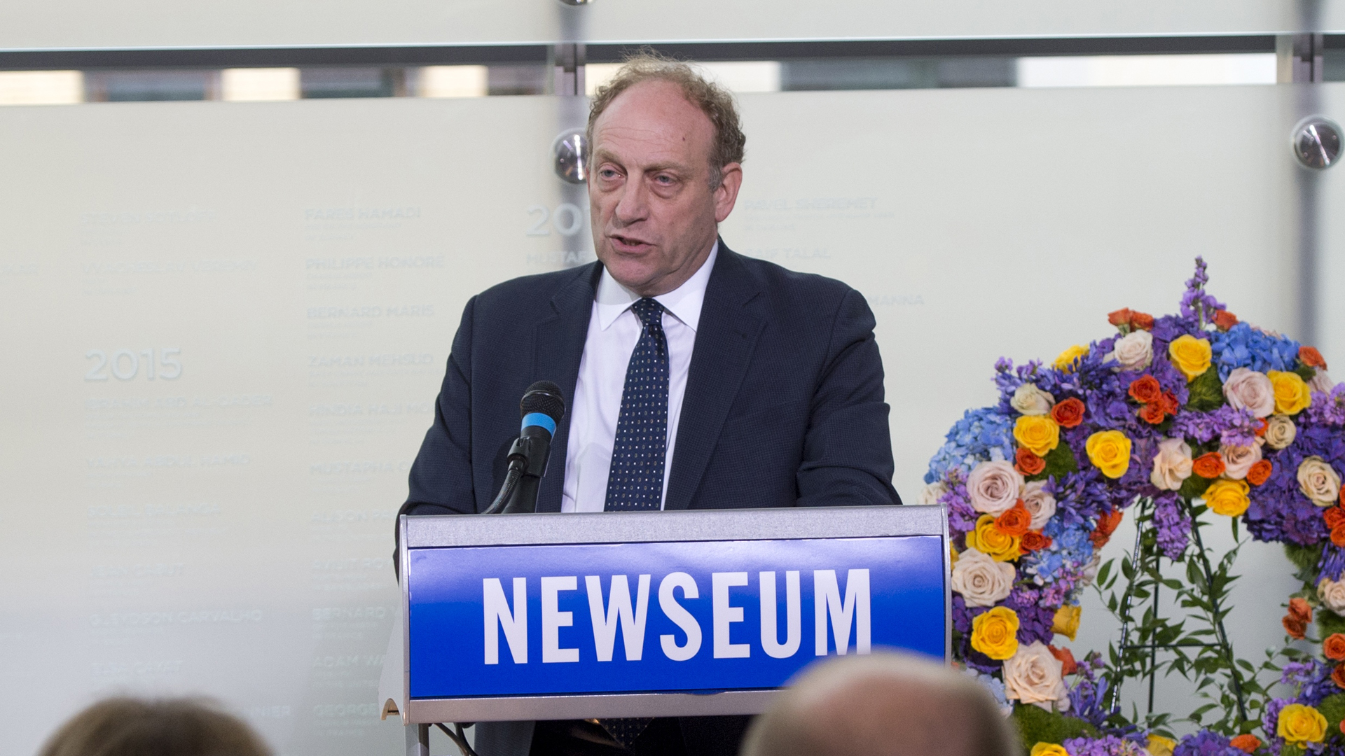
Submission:
<svg viewBox="0 0 1345 756">
<path fill-rule="evenodd" d="M 467 303 L 408 514 L 486 510 L 534 381 L 574 397 L 601 265 L 514 278 Z M 705 291 L 664 508 L 900 504 L 873 312 L 831 278 L 720 242 Z M 537 511 L 561 510 L 569 414 Z"/>
</svg>

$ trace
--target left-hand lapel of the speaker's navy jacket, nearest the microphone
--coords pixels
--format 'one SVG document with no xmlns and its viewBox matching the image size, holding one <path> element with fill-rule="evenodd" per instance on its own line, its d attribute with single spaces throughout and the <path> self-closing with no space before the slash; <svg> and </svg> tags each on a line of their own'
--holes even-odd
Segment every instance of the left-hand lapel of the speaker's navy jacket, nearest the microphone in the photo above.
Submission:
<svg viewBox="0 0 1345 756">
<path fill-rule="evenodd" d="M 537 511 L 561 511 L 561 492 L 565 486 L 565 453 L 570 436 L 570 414 L 574 409 L 574 385 L 580 377 L 580 359 L 593 313 L 593 293 L 603 268 L 594 262 L 576 276 L 551 297 L 553 317 L 537 324 L 533 332 L 533 375 L 538 381 L 554 381 L 566 401 L 565 417 L 551 439 L 551 459 L 537 492 Z"/>
</svg>

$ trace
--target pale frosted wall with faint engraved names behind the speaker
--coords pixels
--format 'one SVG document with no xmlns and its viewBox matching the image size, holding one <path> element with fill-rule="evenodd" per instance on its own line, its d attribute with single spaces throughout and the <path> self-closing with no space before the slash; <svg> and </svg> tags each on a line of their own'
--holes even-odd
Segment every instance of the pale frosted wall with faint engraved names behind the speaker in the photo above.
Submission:
<svg viewBox="0 0 1345 756">
<path fill-rule="evenodd" d="M 742 106 L 724 237 L 869 299 L 908 499 L 948 425 L 991 401 L 997 356 L 1053 358 L 1119 307 L 1174 309 L 1196 254 L 1239 316 L 1294 326 L 1286 87 Z M 32 752 L 114 690 L 219 697 L 286 755 L 401 748 L 374 693 L 391 517 L 467 297 L 590 249 L 537 210 L 562 202 L 558 112 L 0 110 L 0 749 Z M 121 350 L 137 370 L 97 370 Z M 1231 624 L 1256 658 L 1291 582 L 1274 547 L 1243 572 Z M 1077 654 L 1110 630 L 1084 619 Z"/>
</svg>

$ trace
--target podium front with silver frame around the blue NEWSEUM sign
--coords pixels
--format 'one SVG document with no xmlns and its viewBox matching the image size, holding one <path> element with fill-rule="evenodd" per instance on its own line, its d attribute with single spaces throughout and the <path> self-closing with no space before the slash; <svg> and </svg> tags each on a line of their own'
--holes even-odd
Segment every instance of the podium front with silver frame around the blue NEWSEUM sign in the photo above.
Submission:
<svg viewBox="0 0 1345 756">
<path fill-rule="evenodd" d="M 752 714 L 822 656 L 948 654 L 940 507 L 399 527 L 408 722 Z"/>
</svg>

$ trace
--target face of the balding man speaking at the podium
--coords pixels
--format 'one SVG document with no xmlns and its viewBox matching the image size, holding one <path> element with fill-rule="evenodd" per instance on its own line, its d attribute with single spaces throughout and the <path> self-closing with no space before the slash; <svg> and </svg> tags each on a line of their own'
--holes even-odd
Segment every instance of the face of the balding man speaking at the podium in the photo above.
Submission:
<svg viewBox="0 0 1345 756">
<path fill-rule="evenodd" d="M 742 182 L 737 163 L 710 188 L 714 125 L 664 81 L 623 91 L 593 124 L 589 179 L 597 258 L 640 296 L 671 292 L 714 246 Z"/>
</svg>

